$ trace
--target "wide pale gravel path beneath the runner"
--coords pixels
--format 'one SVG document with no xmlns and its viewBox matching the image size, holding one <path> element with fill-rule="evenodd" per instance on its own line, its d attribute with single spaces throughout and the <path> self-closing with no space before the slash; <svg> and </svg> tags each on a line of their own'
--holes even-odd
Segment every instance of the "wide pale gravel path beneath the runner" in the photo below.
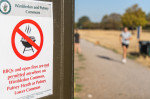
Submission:
<svg viewBox="0 0 150 99">
<path fill-rule="evenodd" d="M 85 40 L 81 49 L 84 63 L 75 57 L 75 68 L 85 67 L 77 80 L 81 99 L 150 99 L 150 69 L 132 60 L 122 64 L 121 55 Z"/>
</svg>

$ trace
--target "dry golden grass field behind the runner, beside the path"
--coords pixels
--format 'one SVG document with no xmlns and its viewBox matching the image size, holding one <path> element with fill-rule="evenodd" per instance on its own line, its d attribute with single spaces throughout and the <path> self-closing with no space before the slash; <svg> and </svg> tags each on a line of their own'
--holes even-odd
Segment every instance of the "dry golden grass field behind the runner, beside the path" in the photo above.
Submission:
<svg viewBox="0 0 150 99">
<path fill-rule="evenodd" d="M 122 47 L 119 41 L 119 35 L 121 31 L 116 30 L 79 30 L 82 39 L 86 39 L 94 44 L 110 48 L 120 54 L 122 54 Z M 132 40 L 128 53 L 138 53 L 139 45 L 137 40 L 136 32 L 132 35 Z M 150 40 L 150 33 L 143 32 L 141 34 L 141 40 Z M 138 56 L 135 59 L 137 62 L 144 64 L 145 66 L 150 66 L 150 58 Z"/>
</svg>

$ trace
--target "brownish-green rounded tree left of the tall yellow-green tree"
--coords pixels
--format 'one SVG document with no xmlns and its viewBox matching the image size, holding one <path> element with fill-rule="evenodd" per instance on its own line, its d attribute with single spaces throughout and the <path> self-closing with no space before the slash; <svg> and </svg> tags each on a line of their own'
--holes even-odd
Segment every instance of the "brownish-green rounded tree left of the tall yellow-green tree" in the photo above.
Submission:
<svg viewBox="0 0 150 99">
<path fill-rule="evenodd" d="M 101 28 L 103 29 L 120 29 L 122 27 L 121 15 L 112 13 L 111 15 L 105 15 L 102 18 Z"/>
</svg>

